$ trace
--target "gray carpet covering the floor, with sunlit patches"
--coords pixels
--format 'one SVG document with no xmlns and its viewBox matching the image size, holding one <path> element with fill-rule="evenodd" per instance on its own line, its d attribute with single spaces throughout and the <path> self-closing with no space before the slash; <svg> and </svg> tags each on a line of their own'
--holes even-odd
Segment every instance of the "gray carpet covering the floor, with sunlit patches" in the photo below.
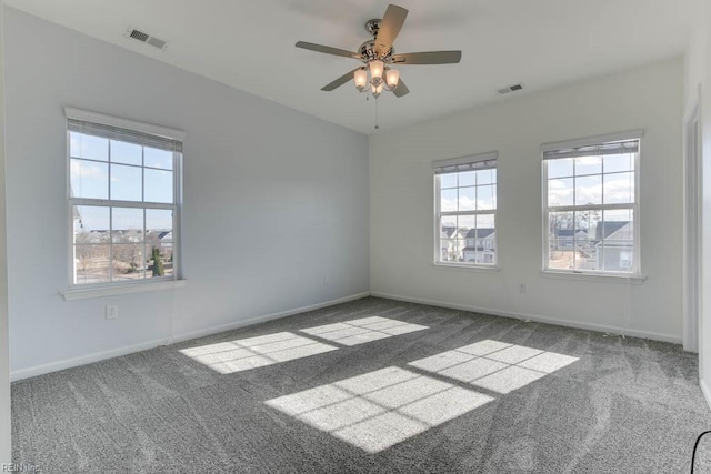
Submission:
<svg viewBox="0 0 711 474">
<path fill-rule="evenodd" d="M 17 382 L 12 454 L 44 473 L 689 472 L 711 428 L 697 377 L 673 344 L 368 297 Z M 699 456 L 711 472 L 711 438 Z"/>
</svg>

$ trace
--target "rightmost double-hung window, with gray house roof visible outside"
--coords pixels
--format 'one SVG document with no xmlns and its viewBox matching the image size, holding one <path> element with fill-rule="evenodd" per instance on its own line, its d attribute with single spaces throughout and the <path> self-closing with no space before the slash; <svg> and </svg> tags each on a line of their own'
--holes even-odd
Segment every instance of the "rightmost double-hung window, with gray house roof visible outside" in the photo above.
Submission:
<svg viewBox="0 0 711 474">
<path fill-rule="evenodd" d="M 543 145 L 543 269 L 640 274 L 641 131 Z"/>
</svg>

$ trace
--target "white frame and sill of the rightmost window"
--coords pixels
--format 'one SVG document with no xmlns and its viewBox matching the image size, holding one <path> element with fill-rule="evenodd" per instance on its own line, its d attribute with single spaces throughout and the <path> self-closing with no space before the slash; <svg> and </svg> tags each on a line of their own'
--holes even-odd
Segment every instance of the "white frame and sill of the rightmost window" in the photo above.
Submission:
<svg viewBox="0 0 711 474">
<path fill-rule="evenodd" d="M 603 279 L 627 279 L 634 282 L 643 282 L 645 278 L 642 275 L 642 266 L 641 266 L 641 239 L 640 239 L 640 157 L 642 154 L 642 138 L 644 135 L 644 130 L 631 130 L 627 132 L 620 133 L 611 133 L 605 135 L 590 137 L 578 140 L 568 140 L 562 142 L 554 143 L 544 143 L 541 145 L 541 157 L 544 157 L 547 152 L 555 152 L 561 150 L 570 150 L 578 149 L 584 147 L 597 147 L 608 143 L 623 142 L 638 140 L 639 149 L 634 157 L 634 203 L 632 204 L 590 204 L 590 205 L 565 205 L 565 206 L 555 206 L 549 208 L 548 205 L 548 163 L 543 158 L 541 160 L 541 175 L 542 175 L 542 224 L 543 224 L 543 252 L 542 252 L 542 272 L 544 274 L 551 275 L 582 275 L 582 276 L 592 276 L 592 278 L 603 278 Z M 561 157 L 563 158 L 563 157 Z M 602 174 L 604 175 L 604 168 L 602 169 Z M 604 189 L 603 189 L 604 195 Z M 633 239 L 634 239 L 634 249 L 633 249 L 633 259 L 634 264 L 633 269 L 630 272 L 620 272 L 620 271 L 610 271 L 610 270 L 581 270 L 581 269 L 551 269 L 549 268 L 550 263 L 550 242 L 549 242 L 549 213 L 550 212 L 569 212 L 569 211 L 589 211 L 589 210 L 631 210 L 634 215 L 634 225 L 633 225 Z M 573 225 L 574 230 L 574 225 Z"/>
</svg>

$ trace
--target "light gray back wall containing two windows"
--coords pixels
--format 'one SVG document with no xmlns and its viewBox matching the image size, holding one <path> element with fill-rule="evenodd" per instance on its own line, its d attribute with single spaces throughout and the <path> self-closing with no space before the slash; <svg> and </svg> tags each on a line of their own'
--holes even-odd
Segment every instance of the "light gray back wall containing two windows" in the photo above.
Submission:
<svg viewBox="0 0 711 474">
<path fill-rule="evenodd" d="M 682 101 L 679 58 L 373 135 L 371 291 L 680 342 L 682 253 L 670 242 L 682 241 Z M 639 224 L 648 280 L 543 274 L 541 144 L 635 129 L 645 130 Z M 493 150 L 501 270 L 433 265 L 432 161 Z"/>
</svg>

